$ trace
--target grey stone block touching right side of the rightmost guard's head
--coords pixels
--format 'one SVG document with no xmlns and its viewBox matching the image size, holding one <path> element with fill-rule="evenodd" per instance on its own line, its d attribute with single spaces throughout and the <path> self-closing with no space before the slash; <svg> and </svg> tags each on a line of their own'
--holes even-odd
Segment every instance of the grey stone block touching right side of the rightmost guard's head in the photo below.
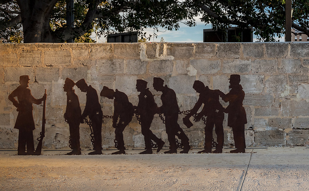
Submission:
<svg viewBox="0 0 309 191">
<path fill-rule="evenodd" d="M 264 75 L 240 75 L 240 84 L 247 94 L 259 94 L 264 90 Z"/>
</svg>

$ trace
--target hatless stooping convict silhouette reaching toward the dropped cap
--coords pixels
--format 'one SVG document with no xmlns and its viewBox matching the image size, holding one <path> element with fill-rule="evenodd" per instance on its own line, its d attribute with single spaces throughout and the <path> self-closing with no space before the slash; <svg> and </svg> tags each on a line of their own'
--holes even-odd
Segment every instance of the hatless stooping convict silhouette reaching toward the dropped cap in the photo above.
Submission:
<svg viewBox="0 0 309 191">
<path fill-rule="evenodd" d="M 194 121 L 198 122 L 204 116 L 206 118 L 205 126 L 205 147 L 203 151 L 198 153 L 210 153 L 212 148 L 212 132 L 215 125 L 215 132 L 217 134 L 217 146 L 213 153 L 222 153 L 224 133 L 223 133 L 223 120 L 224 120 L 224 108 L 219 102 L 219 95 L 217 91 L 209 89 L 208 86 L 205 87 L 204 83 L 196 80 L 193 83 L 193 89 L 197 93 L 200 93 L 197 103 L 191 109 L 190 113 L 184 118 L 190 118 L 192 115 L 196 114 L 198 109 L 204 104 L 202 111 L 194 117 Z"/>
</svg>

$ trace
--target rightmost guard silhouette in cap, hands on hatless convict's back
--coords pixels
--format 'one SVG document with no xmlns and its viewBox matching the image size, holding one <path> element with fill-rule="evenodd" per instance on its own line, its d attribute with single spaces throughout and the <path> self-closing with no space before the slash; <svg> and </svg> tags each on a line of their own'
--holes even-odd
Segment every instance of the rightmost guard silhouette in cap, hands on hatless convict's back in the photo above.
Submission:
<svg viewBox="0 0 309 191">
<path fill-rule="evenodd" d="M 245 152 L 245 124 L 247 123 L 246 111 L 243 108 L 243 99 L 245 92 L 240 83 L 240 75 L 232 74 L 229 78 L 231 91 L 224 94 L 219 92 L 220 97 L 225 102 L 229 102 L 229 105 L 225 109 L 228 113 L 227 125 L 233 130 L 235 150 L 230 151 L 231 153 L 243 153 Z"/>
</svg>

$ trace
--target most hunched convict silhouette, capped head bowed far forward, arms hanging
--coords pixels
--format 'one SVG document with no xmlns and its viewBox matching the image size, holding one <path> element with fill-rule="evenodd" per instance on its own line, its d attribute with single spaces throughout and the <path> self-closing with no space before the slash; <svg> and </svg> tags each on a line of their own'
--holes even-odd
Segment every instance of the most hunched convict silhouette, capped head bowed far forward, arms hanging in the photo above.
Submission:
<svg viewBox="0 0 309 191">
<path fill-rule="evenodd" d="M 117 89 L 114 91 L 104 86 L 100 95 L 111 100 L 115 98 L 112 126 L 115 128 L 115 139 L 119 151 L 113 152 L 112 155 L 125 154 L 125 142 L 122 132 L 132 120 L 134 114 L 133 105 L 129 102 L 128 96 Z"/>
</svg>

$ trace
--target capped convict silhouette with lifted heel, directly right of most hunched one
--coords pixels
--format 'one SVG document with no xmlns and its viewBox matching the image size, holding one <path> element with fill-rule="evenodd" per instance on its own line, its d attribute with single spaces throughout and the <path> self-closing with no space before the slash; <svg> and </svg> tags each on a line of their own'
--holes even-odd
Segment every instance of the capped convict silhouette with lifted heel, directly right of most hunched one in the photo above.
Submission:
<svg viewBox="0 0 309 191">
<path fill-rule="evenodd" d="M 155 103 L 154 96 L 149 91 L 149 88 L 147 88 L 146 81 L 142 79 L 136 80 L 136 90 L 138 92 L 141 92 L 138 95 L 137 112 L 140 115 L 142 134 L 144 135 L 146 147 L 146 151 L 143 151 L 140 154 L 152 154 L 151 140 L 157 143 L 157 152 L 159 152 L 165 142 L 162 141 L 162 139 L 157 138 L 155 134 L 153 134 L 150 130 L 150 125 L 152 123 L 155 113 L 157 113 L 158 106 Z"/>
</svg>

